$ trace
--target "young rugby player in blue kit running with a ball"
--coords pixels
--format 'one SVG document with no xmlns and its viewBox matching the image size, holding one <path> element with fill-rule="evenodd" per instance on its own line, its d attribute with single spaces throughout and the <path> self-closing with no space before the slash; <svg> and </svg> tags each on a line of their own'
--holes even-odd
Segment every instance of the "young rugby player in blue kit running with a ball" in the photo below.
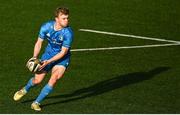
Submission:
<svg viewBox="0 0 180 115">
<path fill-rule="evenodd" d="M 45 75 L 51 70 L 49 82 L 41 90 L 39 96 L 31 104 L 31 108 L 40 111 L 40 102 L 52 91 L 53 87 L 60 79 L 70 61 L 70 47 L 73 40 L 73 31 L 68 26 L 69 10 L 67 8 L 57 8 L 55 20 L 49 21 L 41 26 L 38 40 L 34 46 L 34 54 L 31 59 L 38 58 L 44 40 L 48 45 L 41 57 L 43 64 L 40 73 L 36 73 L 21 90 L 14 94 L 14 100 L 20 100 L 29 92 L 30 88 L 41 83 Z M 31 60 L 30 59 L 30 60 Z"/>
</svg>

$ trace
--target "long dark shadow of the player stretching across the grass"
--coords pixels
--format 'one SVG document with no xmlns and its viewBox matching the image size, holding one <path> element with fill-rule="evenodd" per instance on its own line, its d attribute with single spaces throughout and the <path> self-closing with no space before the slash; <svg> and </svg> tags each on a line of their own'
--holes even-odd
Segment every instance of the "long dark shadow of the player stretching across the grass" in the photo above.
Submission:
<svg viewBox="0 0 180 115">
<path fill-rule="evenodd" d="M 64 98 L 65 100 L 58 100 L 56 102 L 47 103 L 47 104 L 42 105 L 42 107 L 60 104 L 60 103 L 67 103 L 67 102 L 71 102 L 71 101 L 75 101 L 79 99 L 84 99 L 87 97 L 97 96 L 105 92 L 109 92 L 109 91 L 112 91 L 112 90 L 115 90 L 124 86 L 128 86 L 131 84 L 149 80 L 155 77 L 156 75 L 162 72 L 165 72 L 169 69 L 170 69 L 169 67 L 158 67 L 148 72 L 134 72 L 134 73 L 129 73 L 125 75 L 120 75 L 111 79 L 98 82 L 92 86 L 78 89 L 70 94 L 47 97 L 46 99 L 57 100 L 60 98 Z M 27 100 L 27 101 L 24 101 L 23 103 L 26 103 L 29 101 L 33 101 L 33 100 Z"/>
</svg>

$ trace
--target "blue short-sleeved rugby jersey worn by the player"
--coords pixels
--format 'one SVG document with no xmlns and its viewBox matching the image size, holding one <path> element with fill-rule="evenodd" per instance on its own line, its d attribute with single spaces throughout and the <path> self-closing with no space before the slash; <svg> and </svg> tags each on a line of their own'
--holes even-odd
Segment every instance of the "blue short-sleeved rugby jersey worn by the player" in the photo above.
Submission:
<svg viewBox="0 0 180 115">
<path fill-rule="evenodd" d="M 45 53 L 54 56 L 61 51 L 62 46 L 69 48 L 66 56 L 70 55 L 70 48 L 73 40 L 73 31 L 71 27 L 65 27 L 61 30 L 54 30 L 55 21 L 48 21 L 41 26 L 39 38 L 48 40 Z"/>
</svg>

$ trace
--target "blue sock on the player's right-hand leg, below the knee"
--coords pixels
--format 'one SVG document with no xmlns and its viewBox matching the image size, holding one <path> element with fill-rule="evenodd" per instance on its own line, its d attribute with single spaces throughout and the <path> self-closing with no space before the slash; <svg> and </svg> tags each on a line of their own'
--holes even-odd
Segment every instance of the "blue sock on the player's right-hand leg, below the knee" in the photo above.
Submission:
<svg viewBox="0 0 180 115">
<path fill-rule="evenodd" d="M 49 84 L 44 86 L 44 88 L 41 90 L 41 93 L 36 98 L 35 102 L 40 103 L 52 90 L 53 87 L 49 86 Z"/>
</svg>

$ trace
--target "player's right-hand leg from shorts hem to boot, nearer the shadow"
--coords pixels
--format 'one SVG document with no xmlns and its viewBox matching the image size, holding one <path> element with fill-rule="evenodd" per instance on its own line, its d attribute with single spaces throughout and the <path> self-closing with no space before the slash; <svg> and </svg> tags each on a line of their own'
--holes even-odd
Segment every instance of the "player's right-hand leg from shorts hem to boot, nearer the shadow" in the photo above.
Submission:
<svg viewBox="0 0 180 115">
<path fill-rule="evenodd" d="M 56 65 L 52 68 L 52 75 L 47 85 L 41 90 L 41 93 L 32 103 L 31 108 L 40 111 L 40 102 L 53 90 L 54 85 L 57 83 L 58 79 L 62 78 L 65 73 L 66 67 L 63 65 Z"/>
</svg>

